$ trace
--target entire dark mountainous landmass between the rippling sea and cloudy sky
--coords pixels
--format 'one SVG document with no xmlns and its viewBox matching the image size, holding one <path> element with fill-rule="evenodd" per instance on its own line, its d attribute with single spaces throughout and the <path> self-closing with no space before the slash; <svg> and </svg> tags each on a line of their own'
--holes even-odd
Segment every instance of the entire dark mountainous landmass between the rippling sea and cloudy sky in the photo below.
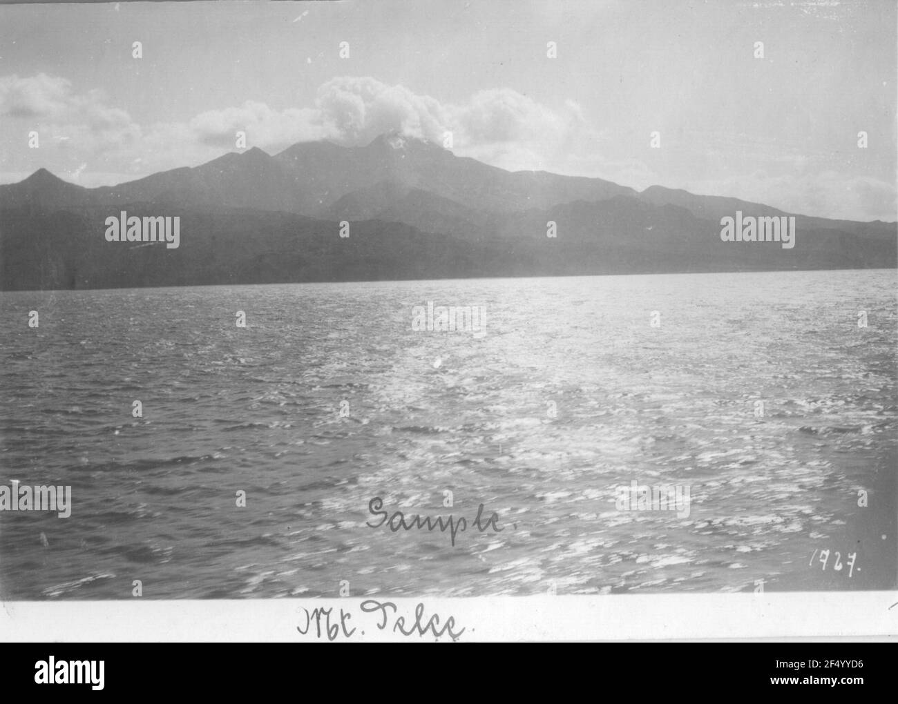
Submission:
<svg viewBox="0 0 898 704">
<path fill-rule="evenodd" d="M 759 223 L 795 215 L 665 187 L 639 193 L 599 178 L 510 172 L 397 133 L 364 147 L 297 143 L 274 156 L 253 148 L 113 187 L 79 187 L 40 169 L 0 186 L 0 289 L 896 265 L 895 222 L 798 214 L 793 247 L 783 248 L 721 239 L 722 219 L 736 213 Z M 179 218 L 180 245 L 140 239 L 139 227 L 126 237 L 131 218 Z M 105 236 L 108 219 L 120 219 L 120 239 Z"/>
</svg>

